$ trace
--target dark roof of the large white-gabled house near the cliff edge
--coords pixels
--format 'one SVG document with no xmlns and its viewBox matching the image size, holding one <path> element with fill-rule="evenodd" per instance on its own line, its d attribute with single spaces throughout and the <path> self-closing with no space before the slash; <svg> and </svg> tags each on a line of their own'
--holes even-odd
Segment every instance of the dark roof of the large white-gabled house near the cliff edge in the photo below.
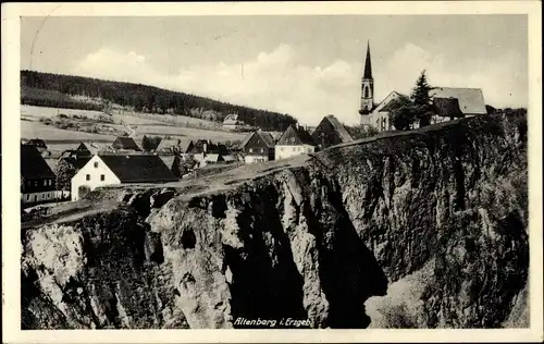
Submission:
<svg viewBox="0 0 544 344">
<path fill-rule="evenodd" d="M 177 181 L 156 155 L 99 155 L 121 183 L 153 183 Z"/>
</svg>

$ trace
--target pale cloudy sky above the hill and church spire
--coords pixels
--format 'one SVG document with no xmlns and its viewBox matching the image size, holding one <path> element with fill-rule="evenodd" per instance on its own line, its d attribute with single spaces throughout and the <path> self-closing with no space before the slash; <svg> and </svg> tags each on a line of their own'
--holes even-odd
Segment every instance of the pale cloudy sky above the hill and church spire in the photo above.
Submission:
<svg viewBox="0 0 544 344">
<path fill-rule="evenodd" d="M 288 113 L 359 121 L 370 42 L 374 101 L 432 86 L 527 107 L 526 15 L 22 17 L 21 69 L 141 83 Z"/>
</svg>

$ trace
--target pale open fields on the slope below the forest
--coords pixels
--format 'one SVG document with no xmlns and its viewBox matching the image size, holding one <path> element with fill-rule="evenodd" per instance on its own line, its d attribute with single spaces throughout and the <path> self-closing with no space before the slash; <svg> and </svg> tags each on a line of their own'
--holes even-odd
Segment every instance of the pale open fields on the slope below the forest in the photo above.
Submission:
<svg viewBox="0 0 544 344">
<path fill-rule="evenodd" d="M 103 115 L 100 111 L 74 110 L 74 109 L 57 109 L 57 108 L 42 108 L 33 106 L 21 106 L 21 137 L 22 138 L 41 138 L 48 145 L 49 150 L 53 156 L 60 153 L 64 149 L 75 148 L 81 142 L 94 142 L 99 144 L 112 143 L 115 137 L 113 135 L 84 133 L 71 130 L 61 130 L 52 125 L 46 125 L 39 120 L 41 118 L 54 118 L 59 114 L 66 114 L 69 116 L 78 115 L 96 119 Z M 196 140 L 196 139 L 211 139 L 214 143 L 224 143 L 232 140 L 244 139 L 244 134 L 230 133 L 224 131 L 212 131 L 198 127 L 177 126 L 173 123 L 162 122 L 163 115 L 156 115 L 157 119 L 151 118 L 150 114 L 133 115 L 132 113 L 112 114 L 114 124 L 104 124 L 115 127 L 119 131 L 131 133 L 134 131 L 133 137 L 136 143 L 141 143 L 141 137 L 147 136 L 161 136 L 169 143 L 174 143 L 176 139 Z M 164 119 L 173 116 L 164 116 Z M 193 118 L 176 116 L 182 120 L 190 120 L 191 123 L 207 122 Z"/>
</svg>

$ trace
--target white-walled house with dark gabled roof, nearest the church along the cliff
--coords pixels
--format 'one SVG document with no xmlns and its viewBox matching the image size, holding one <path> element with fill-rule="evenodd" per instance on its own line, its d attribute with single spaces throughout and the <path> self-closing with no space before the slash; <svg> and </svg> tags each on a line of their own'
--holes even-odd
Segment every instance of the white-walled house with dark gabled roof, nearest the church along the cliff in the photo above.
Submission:
<svg viewBox="0 0 544 344">
<path fill-rule="evenodd" d="M 275 160 L 316 151 L 311 135 L 298 124 L 289 125 L 275 144 Z"/>
</svg>

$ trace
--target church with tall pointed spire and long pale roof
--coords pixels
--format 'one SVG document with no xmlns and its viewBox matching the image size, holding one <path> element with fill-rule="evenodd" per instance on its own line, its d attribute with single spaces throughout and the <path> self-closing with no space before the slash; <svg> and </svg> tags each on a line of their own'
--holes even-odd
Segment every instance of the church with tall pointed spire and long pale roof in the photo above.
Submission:
<svg viewBox="0 0 544 344">
<path fill-rule="evenodd" d="M 370 42 L 368 42 L 361 78 L 359 110 L 361 124 L 363 126 L 373 126 L 380 132 L 395 130 L 390 121 L 390 111 L 392 101 L 399 96 L 408 97 L 393 90 L 381 102 L 374 102 L 374 78 L 372 77 Z M 434 87 L 431 97 L 435 110 L 431 124 L 487 114 L 483 93 L 480 88 Z M 419 123 L 415 122 L 411 127 L 419 127 Z"/>
</svg>

